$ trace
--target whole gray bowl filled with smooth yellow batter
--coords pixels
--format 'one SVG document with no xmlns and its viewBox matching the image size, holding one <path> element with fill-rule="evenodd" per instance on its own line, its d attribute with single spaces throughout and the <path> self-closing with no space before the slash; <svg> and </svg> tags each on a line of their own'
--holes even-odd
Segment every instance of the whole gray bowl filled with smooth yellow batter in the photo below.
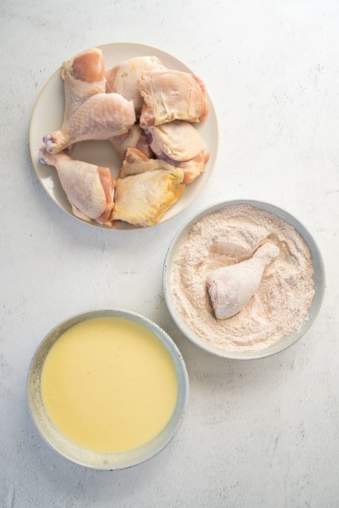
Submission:
<svg viewBox="0 0 339 508">
<path fill-rule="evenodd" d="M 187 370 L 158 325 L 125 310 L 72 316 L 38 346 L 27 376 L 30 415 L 76 464 L 114 470 L 160 452 L 177 432 Z"/>
</svg>

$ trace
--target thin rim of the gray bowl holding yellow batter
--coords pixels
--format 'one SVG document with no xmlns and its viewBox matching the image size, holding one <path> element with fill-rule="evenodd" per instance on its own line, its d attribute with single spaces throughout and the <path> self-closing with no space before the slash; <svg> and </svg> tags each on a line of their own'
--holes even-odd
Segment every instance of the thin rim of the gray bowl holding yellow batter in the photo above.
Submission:
<svg viewBox="0 0 339 508">
<path fill-rule="evenodd" d="M 35 411 L 35 409 L 33 407 L 33 400 L 35 400 L 35 399 L 30 394 L 30 384 L 32 383 L 32 376 L 33 376 L 34 369 L 35 369 L 35 362 L 37 361 L 39 353 L 44 350 L 44 347 L 46 347 L 46 344 L 48 343 L 48 340 L 51 337 L 51 335 L 53 333 L 56 333 L 58 328 L 62 329 L 63 326 L 67 326 L 67 324 L 71 323 L 72 320 L 78 320 L 78 321 L 76 321 L 75 323 L 71 324 L 69 328 L 71 328 L 72 326 L 74 326 L 75 324 L 77 324 L 79 322 L 83 322 L 83 321 L 86 321 L 87 319 L 91 319 L 92 317 L 99 317 L 99 316 L 104 316 L 104 315 L 126 317 L 126 319 L 129 319 L 129 317 L 133 317 L 134 318 L 133 321 L 135 321 L 135 322 L 137 322 L 137 323 L 139 323 L 139 324 L 141 324 L 143 326 L 146 326 L 150 331 L 153 332 L 153 334 L 155 334 L 157 336 L 158 340 L 162 341 L 165 346 L 166 346 L 166 344 L 169 346 L 169 347 L 166 347 L 166 348 L 169 351 L 174 364 L 176 364 L 176 362 L 174 361 L 174 358 L 177 359 L 177 365 L 180 366 L 180 377 L 183 380 L 183 384 L 182 384 L 181 390 L 180 390 L 180 387 L 178 385 L 178 397 L 179 397 L 179 395 L 181 395 L 181 399 L 182 399 L 182 401 L 181 401 L 181 408 L 180 408 L 180 411 L 178 412 L 178 414 L 175 417 L 175 425 L 172 428 L 171 432 L 165 438 L 163 438 L 159 442 L 158 446 L 155 447 L 155 451 L 152 451 L 151 453 L 146 453 L 145 457 L 142 460 L 138 460 L 136 462 L 130 461 L 131 463 L 124 464 L 121 467 L 120 466 L 116 466 L 116 465 L 112 465 L 112 464 L 109 464 L 109 463 L 107 463 L 107 464 L 103 463 L 103 464 L 101 464 L 100 467 L 98 467 L 97 465 L 87 463 L 86 461 L 83 461 L 83 460 L 75 460 L 74 458 L 72 458 L 66 452 L 63 452 L 63 451 L 59 450 L 58 447 L 55 446 L 55 444 L 53 443 L 53 440 L 49 437 L 49 433 L 45 433 L 43 431 L 43 429 L 42 429 L 42 426 L 39 425 L 39 418 L 38 418 L 38 416 L 36 414 L 36 411 Z M 66 330 L 67 330 L 67 328 L 65 328 L 63 331 L 59 332 L 58 336 L 55 338 L 55 340 L 52 342 L 52 344 L 54 344 L 56 342 L 56 340 L 58 340 L 59 336 L 61 334 L 63 334 Z M 155 333 L 155 330 L 159 333 L 159 335 L 164 340 L 162 340 Z M 178 378 L 179 373 L 177 371 L 176 371 L 176 374 L 177 374 L 177 378 Z M 181 392 L 181 394 L 180 394 L 180 392 Z M 28 371 L 27 371 L 27 376 L 26 376 L 26 401 L 27 401 L 27 406 L 28 406 L 28 412 L 29 412 L 30 418 L 32 419 L 36 429 L 38 430 L 40 436 L 43 438 L 45 443 L 47 443 L 48 446 L 54 452 L 56 452 L 61 457 L 64 457 L 65 459 L 69 460 L 73 464 L 77 464 L 79 466 L 86 467 L 88 469 L 95 469 L 95 470 L 102 470 L 102 471 L 104 471 L 104 470 L 113 471 L 113 470 L 127 469 L 127 468 L 130 468 L 130 467 L 136 466 L 138 464 L 141 464 L 143 462 L 146 462 L 147 460 L 151 459 L 152 457 L 155 457 L 156 455 L 158 455 L 158 453 L 160 453 L 167 446 L 167 444 L 173 439 L 173 437 L 177 433 L 177 431 L 178 431 L 178 429 L 179 429 L 179 427 L 180 427 L 180 425 L 181 425 L 181 423 L 183 421 L 184 415 L 186 414 L 187 404 L 188 404 L 188 398 L 189 398 L 189 377 L 188 377 L 188 372 L 187 372 L 186 364 L 184 362 L 184 359 L 183 359 L 183 357 L 182 357 L 182 355 L 181 355 L 177 345 L 173 341 L 173 339 L 167 334 L 167 332 L 165 332 L 165 330 L 163 330 L 159 325 L 157 325 L 157 323 L 149 320 L 147 317 L 143 316 L 142 314 L 139 314 L 137 312 L 133 312 L 133 311 L 130 311 L 130 310 L 119 309 L 119 308 L 114 308 L 114 309 L 90 309 L 90 310 L 83 311 L 83 312 L 80 312 L 80 313 L 77 313 L 77 314 L 73 314 L 70 317 L 68 317 L 67 319 L 65 319 L 65 320 L 61 321 L 60 323 L 58 323 L 57 325 L 55 325 L 44 336 L 44 338 L 39 342 L 38 346 L 36 347 L 36 350 L 35 350 L 35 352 L 34 352 L 34 354 L 32 356 L 32 359 L 30 360 Z M 45 410 L 45 411 L 46 411 L 46 414 L 48 415 L 47 410 Z M 173 414 L 172 414 L 171 418 L 173 418 L 174 414 L 175 414 L 175 410 L 173 411 Z M 155 439 L 155 438 L 153 438 L 153 439 Z M 71 440 L 69 440 L 69 441 L 70 441 L 70 443 L 72 442 Z M 143 446 L 146 446 L 151 441 L 148 441 L 147 443 L 145 443 L 145 445 L 142 445 L 139 448 L 141 449 Z M 81 446 L 78 446 L 78 447 L 80 449 L 86 450 L 84 447 L 81 447 Z M 137 449 L 135 449 L 135 450 L 137 450 Z M 133 452 L 133 450 L 131 450 L 130 452 Z M 97 454 L 102 455 L 102 456 L 105 455 L 103 452 L 102 453 L 101 452 L 94 452 L 94 453 L 97 453 Z M 116 453 L 116 455 L 118 455 L 120 453 L 124 454 L 124 453 L 128 453 L 128 452 L 118 452 L 118 453 Z M 114 453 L 111 452 L 111 453 L 109 453 L 107 455 L 114 455 Z"/>
</svg>

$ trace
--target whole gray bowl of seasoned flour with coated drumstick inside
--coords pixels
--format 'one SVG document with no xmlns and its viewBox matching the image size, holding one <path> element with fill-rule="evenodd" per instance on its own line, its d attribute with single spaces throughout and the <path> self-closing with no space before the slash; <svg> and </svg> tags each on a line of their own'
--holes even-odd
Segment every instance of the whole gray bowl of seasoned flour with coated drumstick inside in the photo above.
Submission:
<svg viewBox="0 0 339 508">
<path fill-rule="evenodd" d="M 258 268 L 267 246 L 274 255 Z M 227 283 L 215 294 L 209 283 L 219 273 L 227 273 Z M 164 265 L 176 325 L 225 358 L 264 358 L 289 347 L 316 319 L 324 290 L 324 265 L 310 233 L 286 211 L 259 201 L 229 201 L 195 215 L 175 235 Z M 225 299 L 233 312 L 222 307 Z"/>
</svg>

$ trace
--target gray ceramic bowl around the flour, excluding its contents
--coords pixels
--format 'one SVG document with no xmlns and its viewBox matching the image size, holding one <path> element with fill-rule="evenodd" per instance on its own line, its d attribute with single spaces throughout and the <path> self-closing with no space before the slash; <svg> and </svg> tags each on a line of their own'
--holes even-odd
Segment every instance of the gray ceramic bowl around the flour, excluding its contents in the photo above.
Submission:
<svg viewBox="0 0 339 508">
<path fill-rule="evenodd" d="M 300 236 L 303 238 L 303 240 L 306 242 L 307 246 L 309 247 L 312 255 L 312 261 L 313 261 L 313 268 L 314 268 L 314 289 L 315 294 L 313 297 L 313 301 L 311 304 L 311 307 L 308 312 L 308 317 L 305 319 L 301 325 L 298 327 L 297 330 L 295 330 L 292 334 L 283 337 L 278 342 L 274 343 L 273 345 L 266 347 L 262 350 L 253 350 L 253 351 L 246 351 L 246 352 L 238 352 L 238 351 L 226 351 L 224 349 L 221 349 L 219 347 L 215 347 L 209 342 L 207 342 L 204 338 L 199 337 L 196 333 L 189 328 L 189 326 L 184 322 L 181 314 L 179 313 L 174 300 L 171 296 L 171 273 L 173 269 L 174 259 L 176 255 L 176 251 L 178 247 L 180 246 L 182 240 L 188 232 L 192 229 L 195 223 L 197 223 L 198 220 L 200 220 L 205 215 L 209 215 L 210 213 L 217 212 L 219 210 L 222 210 L 224 208 L 228 208 L 233 205 L 239 205 L 239 204 L 249 204 L 256 208 L 259 208 L 260 210 L 265 210 L 266 212 L 271 213 L 272 215 L 276 215 L 277 217 L 285 220 L 288 224 L 291 224 L 297 232 L 300 234 Z M 319 249 L 313 240 L 310 233 L 302 226 L 302 224 L 299 223 L 297 219 L 295 219 L 292 215 L 290 215 L 285 210 L 282 210 L 281 208 L 278 208 L 274 205 L 270 205 L 268 203 L 263 203 L 261 201 L 253 201 L 253 200 L 234 200 L 234 201 L 226 201 L 224 203 L 219 203 L 217 205 L 208 207 L 198 214 L 196 214 L 194 217 L 192 217 L 188 223 L 186 223 L 182 228 L 177 232 L 175 237 L 173 238 L 170 247 L 167 252 L 165 265 L 164 265 L 164 274 L 163 274 L 163 283 L 164 283 L 164 293 L 165 293 L 165 299 L 167 303 L 167 307 L 172 315 L 173 320 L 175 321 L 178 328 L 181 330 L 181 332 L 186 335 L 192 342 L 194 342 L 199 347 L 202 347 L 205 351 L 208 351 L 209 353 L 212 353 L 214 355 L 218 355 L 220 357 L 224 358 L 230 358 L 230 359 L 237 359 L 237 360 L 253 360 L 257 358 L 264 358 L 267 356 L 274 355 L 276 353 L 279 353 L 283 350 L 285 350 L 290 345 L 294 344 L 312 325 L 314 320 L 316 319 L 316 316 L 320 310 L 323 297 L 324 297 L 324 291 L 325 291 L 325 270 L 324 270 L 324 264 L 321 257 L 321 254 L 319 252 Z"/>
</svg>

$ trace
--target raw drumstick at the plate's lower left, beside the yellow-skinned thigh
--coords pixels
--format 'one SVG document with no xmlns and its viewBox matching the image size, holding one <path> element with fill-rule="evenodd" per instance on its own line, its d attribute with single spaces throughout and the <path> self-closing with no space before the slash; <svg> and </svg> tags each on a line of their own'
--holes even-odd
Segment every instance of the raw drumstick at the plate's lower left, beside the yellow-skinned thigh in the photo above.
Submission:
<svg viewBox="0 0 339 508">
<path fill-rule="evenodd" d="M 45 146 L 40 148 L 39 158 L 42 164 L 55 166 L 74 215 L 112 226 L 110 216 L 116 183 L 109 168 L 73 161 L 65 152 L 48 153 Z"/>
</svg>

